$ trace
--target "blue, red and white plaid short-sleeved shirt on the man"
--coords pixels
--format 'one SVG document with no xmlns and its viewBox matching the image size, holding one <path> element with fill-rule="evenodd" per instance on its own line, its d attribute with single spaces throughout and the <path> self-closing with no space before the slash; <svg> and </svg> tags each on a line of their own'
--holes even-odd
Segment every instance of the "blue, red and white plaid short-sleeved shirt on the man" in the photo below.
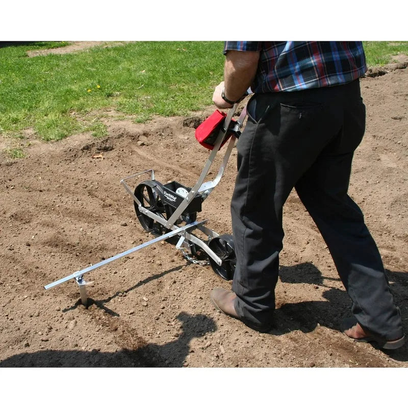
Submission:
<svg viewBox="0 0 408 408">
<path fill-rule="evenodd" d="M 256 93 L 346 84 L 367 70 L 361 41 L 226 41 L 228 50 L 261 52 Z"/>
</svg>

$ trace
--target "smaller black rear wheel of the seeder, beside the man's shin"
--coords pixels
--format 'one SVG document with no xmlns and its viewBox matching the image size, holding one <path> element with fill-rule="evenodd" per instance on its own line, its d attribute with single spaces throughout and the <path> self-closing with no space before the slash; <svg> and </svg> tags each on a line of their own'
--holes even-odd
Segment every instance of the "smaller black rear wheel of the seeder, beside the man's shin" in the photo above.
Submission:
<svg viewBox="0 0 408 408">
<path fill-rule="evenodd" d="M 211 257 L 208 257 L 214 272 L 225 279 L 225 281 L 231 281 L 234 277 L 235 266 L 237 265 L 233 236 L 230 234 L 220 235 L 219 237 L 213 238 L 208 246 L 222 260 L 222 264 L 217 265 Z"/>
</svg>

